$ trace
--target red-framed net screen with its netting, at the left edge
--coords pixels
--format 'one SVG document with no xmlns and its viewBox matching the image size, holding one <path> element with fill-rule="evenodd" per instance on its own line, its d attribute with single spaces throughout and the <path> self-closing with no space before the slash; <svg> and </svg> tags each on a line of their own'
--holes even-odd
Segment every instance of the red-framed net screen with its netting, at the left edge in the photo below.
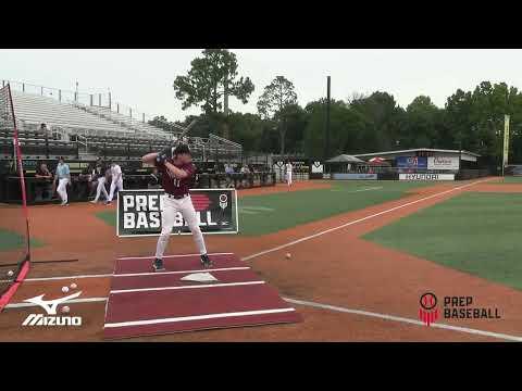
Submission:
<svg viewBox="0 0 522 391">
<path fill-rule="evenodd" d="M 9 85 L 0 89 L 0 134 L 12 144 L 11 168 L 3 175 L 18 178 L 22 200 L 22 205 L 0 203 L 0 311 L 2 311 L 14 294 L 18 282 L 27 274 L 26 261 L 29 260 L 29 227 L 22 151 Z"/>
</svg>

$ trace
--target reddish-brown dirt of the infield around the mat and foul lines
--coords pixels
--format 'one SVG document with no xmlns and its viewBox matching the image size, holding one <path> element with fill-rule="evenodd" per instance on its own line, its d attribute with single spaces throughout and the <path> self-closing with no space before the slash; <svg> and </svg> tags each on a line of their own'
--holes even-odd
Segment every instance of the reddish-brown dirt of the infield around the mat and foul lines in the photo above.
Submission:
<svg viewBox="0 0 522 391">
<path fill-rule="evenodd" d="M 323 181 L 297 184 L 302 184 L 302 189 L 330 186 Z M 496 306 L 501 313 L 501 319 L 456 320 L 448 325 L 520 336 L 522 316 L 519 308 L 522 292 L 360 239 L 365 232 L 463 191 L 482 191 L 482 188 L 492 186 L 472 184 L 474 182 L 445 182 L 420 188 L 407 198 L 261 237 L 213 236 L 207 239 L 211 252 L 232 251 L 248 260 L 246 262 L 253 270 L 277 288 L 285 298 L 365 313 L 350 314 L 296 305 L 304 317 L 302 324 L 136 340 L 498 341 L 493 335 L 477 336 L 472 331 L 428 328 L 408 323 L 408 319 L 418 318 L 419 298 L 426 291 L 436 291 L 437 295 L 474 295 L 480 301 L 477 305 Z M 272 188 L 251 189 L 243 193 L 287 191 L 284 186 L 270 189 Z M 294 190 L 298 189 L 300 188 L 296 186 Z M 150 255 L 156 238 L 119 239 L 114 236 L 113 228 L 92 215 L 92 210 L 107 207 L 90 204 L 73 204 L 67 209 L 54 205 L 32 207 L 33 235 L 50 244 L 35 249 L 35 260 L 78 257 L 78 262 L 36 264 L 29 277 L 110 275 L 117 256 Z M 295 241 L 298 242 L 291 244 Z M 167 252 L 194 252 L 191 238 L 172 240 Z M 291 260 L 285 258 L 286 252 L 291 253 Z M 109 280 L 109 276 L 76 279 L 83 298 L 100 300 L 107 298 Z M 60 288 L 71 281 L 69 278 L 26 281 L 17 292 L 15 302 L 41 293 L 47 293 L 49 298 L 61 297 Z M 30 308 L 10 308 L 0 315 L 0 340 L 101 340 L 104 302 L 72 304 L 73 306 L 75 314 L 84 317 L 84 326 L 77 330 L 59 331 L 22 329 L 20 325 Z"/>
</svg>

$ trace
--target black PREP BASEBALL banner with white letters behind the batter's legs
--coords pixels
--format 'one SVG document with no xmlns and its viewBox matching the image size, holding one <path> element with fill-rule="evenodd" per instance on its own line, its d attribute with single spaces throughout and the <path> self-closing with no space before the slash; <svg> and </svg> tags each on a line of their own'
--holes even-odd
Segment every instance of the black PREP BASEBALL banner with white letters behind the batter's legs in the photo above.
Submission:
<svg viewBox="0 0 522 391">
<path fill-rule="evenodd" d="M 122 190 L 117 193 L 116 235 L 121 238 L 159 236 L 163 190 Z M 199 226 L 203 234 L 237 234 L 238 209 L 235 189 L 191 189 Z M 172 235 L 189 235 L 182 213 L 177 213 Z"/>
</svg>

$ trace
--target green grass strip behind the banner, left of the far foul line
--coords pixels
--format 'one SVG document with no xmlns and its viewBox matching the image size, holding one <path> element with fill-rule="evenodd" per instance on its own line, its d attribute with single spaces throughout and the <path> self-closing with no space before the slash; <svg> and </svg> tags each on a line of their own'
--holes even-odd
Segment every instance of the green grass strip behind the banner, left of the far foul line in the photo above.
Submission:
<svg viewBox="0 0 522 391">
<path fill-rule="evenodd" d="M 395 180 L 339 180 L 330 189 L 249 195 L 238 200 L 240 235 L 265 235 L 345 212 L 396 200 L 413 188 L 433 182 Z M 116 225 L 115 211 L 103 211 L 97 217 Z"/>
</svg>

